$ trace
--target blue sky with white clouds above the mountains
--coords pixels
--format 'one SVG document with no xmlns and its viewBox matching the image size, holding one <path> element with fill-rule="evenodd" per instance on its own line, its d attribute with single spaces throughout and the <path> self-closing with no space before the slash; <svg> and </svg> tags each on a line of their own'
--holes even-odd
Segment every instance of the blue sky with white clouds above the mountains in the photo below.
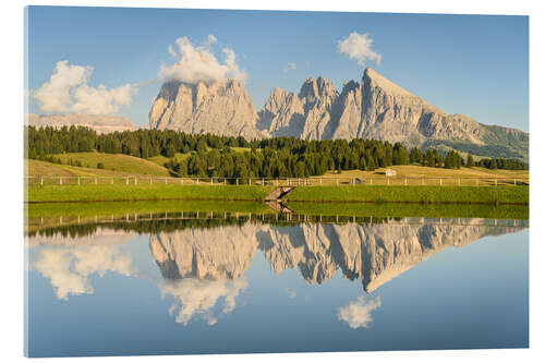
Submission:
<svg viewBox="0 0 545 363">
<path fill-rule="evenodd" d="M 448 113 L 529 130 L 528 16 L 29 7 L 29 112 L 120 114 L 147 124 L 162 82 L 276 87 L 371 66 Z"/>
</svg>

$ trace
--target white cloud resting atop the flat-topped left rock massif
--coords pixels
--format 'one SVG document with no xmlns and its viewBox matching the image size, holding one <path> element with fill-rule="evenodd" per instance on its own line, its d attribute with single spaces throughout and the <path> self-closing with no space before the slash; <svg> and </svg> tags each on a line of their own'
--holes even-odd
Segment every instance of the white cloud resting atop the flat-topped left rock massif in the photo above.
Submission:
<svg viewBox="0 0 545 363">
<path fill-rule="evenodd" d="M 161 64 L 159 76 L 190 84 L 223 82 L 227 78 L 244 82 L 247 75 L 239 69 L 234 51 L 222 48 L 223 63 L 221 63 L 211 51 L 211 46 L 216 43 L 217 38 L 214 35 L 208 35 L 202 46 L 193 45 L 187 37 L 178 38 L 175 40 L 178 49 L 174 50 L 169 46 L 168 50 L 179 61 L 172 65 Z"/>
</svg>

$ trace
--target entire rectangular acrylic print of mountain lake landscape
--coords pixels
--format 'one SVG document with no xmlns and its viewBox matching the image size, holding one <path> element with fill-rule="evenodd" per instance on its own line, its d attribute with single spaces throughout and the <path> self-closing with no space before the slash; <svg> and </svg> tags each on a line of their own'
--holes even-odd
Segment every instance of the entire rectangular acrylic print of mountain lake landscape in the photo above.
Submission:
<svg viewBox="0 0 545 363">
<path fill-rule="evenodd" d="M 528 348 L 526 16 L 25 20 L 27 356 Z"/>
</svg>

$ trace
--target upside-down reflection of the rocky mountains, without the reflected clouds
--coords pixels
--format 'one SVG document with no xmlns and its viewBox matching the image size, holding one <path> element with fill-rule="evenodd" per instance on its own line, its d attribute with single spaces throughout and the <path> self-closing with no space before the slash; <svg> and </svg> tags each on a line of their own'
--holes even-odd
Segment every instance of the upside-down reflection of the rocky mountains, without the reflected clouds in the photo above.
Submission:
<svg viewBox="0 0 545 363">
<path fill-rule="evenodd" d="M 463 225 L 247 222 L 152 234 L 149 247 L 166 279 L 241 278 L 259 250 L 277 274 L 298 268 L 308 283 L 322 285 L 340 269 L 344 278 L 361 279 L 365 292 L 372 292 L 447 247 L 519 229 L 487 226 L 479 219 Z"/>
</svg>

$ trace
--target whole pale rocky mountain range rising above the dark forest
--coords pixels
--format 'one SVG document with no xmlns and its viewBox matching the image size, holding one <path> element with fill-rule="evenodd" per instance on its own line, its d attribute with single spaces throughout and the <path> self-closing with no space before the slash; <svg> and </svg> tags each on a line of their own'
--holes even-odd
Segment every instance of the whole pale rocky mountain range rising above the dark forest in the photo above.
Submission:
<svg viewBox="0 0 545 363">
<path fill-rule="evenodd" d="M 344 82 L 340 93 L 322 76 L 307 78 L 299 94 L 276 87 L 258 112 L 237 81 L 168 81 L 152 106 L 149 126 L 246 138 L 377 138 L 524 160 L 529 153 L 528 133 L 448 114 L 370 68 L 361 83 Z"/>
</svg>

